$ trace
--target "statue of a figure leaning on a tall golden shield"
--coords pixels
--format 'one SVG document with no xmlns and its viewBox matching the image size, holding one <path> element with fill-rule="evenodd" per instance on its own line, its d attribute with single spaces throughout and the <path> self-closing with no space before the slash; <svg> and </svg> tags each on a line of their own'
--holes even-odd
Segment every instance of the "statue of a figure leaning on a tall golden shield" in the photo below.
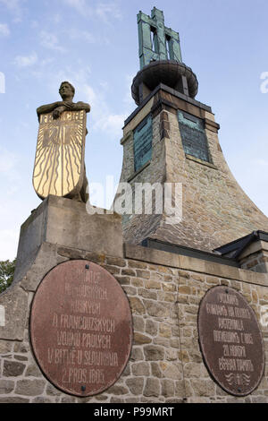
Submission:
<svg viewBox="0 0 268 421">
<path fill-rule="evenodd" d="M 39 131 L 33 185 L 40 199 L 49 194 L 87 202 L 84 164 L 87 113 L 84 102 L 72 102 L 71 83 L 60 87 L 63 101 L 38 107 Z"/>
</svg>

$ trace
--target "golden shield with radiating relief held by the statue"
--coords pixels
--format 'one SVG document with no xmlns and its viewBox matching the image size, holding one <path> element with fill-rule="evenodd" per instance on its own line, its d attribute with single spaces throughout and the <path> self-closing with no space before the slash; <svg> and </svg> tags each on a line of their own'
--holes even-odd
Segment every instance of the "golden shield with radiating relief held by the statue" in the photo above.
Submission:
<svg viewBox="0 0 268 421">
<path fill-rule="evenodd" d="M 33 172 L 33 186 L 41 199 L 48 194 L 69 196 L 79 193 L 84 176 L 87 115 L 64 111 L 54 120 L 42 114 Z"/>
</svg>

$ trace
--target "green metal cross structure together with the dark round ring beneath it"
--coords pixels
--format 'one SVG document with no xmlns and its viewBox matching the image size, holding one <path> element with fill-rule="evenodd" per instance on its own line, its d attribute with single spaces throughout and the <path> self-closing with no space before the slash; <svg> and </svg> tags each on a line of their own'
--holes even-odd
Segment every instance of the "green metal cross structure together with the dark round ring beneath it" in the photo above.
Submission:
<svg viewBox="0 0 268 421">
<path fill-rule="evenodd" d="M 197 76 L 182 63 L 179 33 L 164 25 L 163 12 L 154 9 L 151 16 L 138 13 L 138 44 L 140 71 L 131 91 L 137 105 L 163 83 L 188 98 L 197 95 Z"/>
</svg>

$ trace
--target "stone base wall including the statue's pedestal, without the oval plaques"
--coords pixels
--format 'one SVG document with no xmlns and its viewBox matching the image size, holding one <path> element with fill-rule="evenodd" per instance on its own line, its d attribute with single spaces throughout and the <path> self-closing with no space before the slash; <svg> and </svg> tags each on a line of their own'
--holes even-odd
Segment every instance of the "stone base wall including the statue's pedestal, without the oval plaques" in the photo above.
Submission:
<svg viewBox="0 0 268 421">
<path fill-rule="evenodd" d="M 107 390 L 84 398 L 57 389 L 46 378 L 29 332 L 38 286 L 49 271 L 71 260 L 109 271 L 129 300 L 133 322 L 133 346 L 123 373 Z M 233 288 L 247 300 L 267 353 L 267 273 L 123 245 L 118 215 L 90 216 L 83 203 L 48 197 L 21 227 L 15 279 L 0 296 L 0 403 L 267 403 L 267 364 L 247 396 L 224 391 L 205 365 L 197 315 L 205 294 L 217 286 Z"/>
</svg>

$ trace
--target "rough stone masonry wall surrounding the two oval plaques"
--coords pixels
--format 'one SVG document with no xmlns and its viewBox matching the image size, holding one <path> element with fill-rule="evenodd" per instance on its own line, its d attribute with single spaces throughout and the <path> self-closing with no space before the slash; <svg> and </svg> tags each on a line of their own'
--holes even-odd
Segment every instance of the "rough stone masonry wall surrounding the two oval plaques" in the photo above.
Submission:
<svg viewBox="0 0 268 421">
<path fill-rule="evenodd" d="M 4 294 L 5 298 L 0 296 L 1 303 L 4 299 L 7 303 L 15 289 L 27 296 L 26 317 L 21 315 L 22 337 L 17 334 L 14 339 L 3 339 L 0 335 L 0 403 L 268 402 L 267 364 L 256 391 L 245 398 L 232 397 L 208 374 L 197 339 L 198 305 L 209 288 L 236 288 L 260 321 L 262 305 L 268 303 L 267 275 L 145 247 L 126 246 L 125 256 L 41 246 L 34 267 Z M 73 397 L 48 382 L 29 343 L 29 311 L 34 292 L 47 271 L 70 258 L 96 262 L 112 273 L 129 298 L 133 316 L 134 342 L 124 373 L 107 391 L 89 398 Z M 46 262 L 42 270 L 41 262 Z M 268 329 L 263 325 L 261 328 L 267 359 Z"/>
</svg>

